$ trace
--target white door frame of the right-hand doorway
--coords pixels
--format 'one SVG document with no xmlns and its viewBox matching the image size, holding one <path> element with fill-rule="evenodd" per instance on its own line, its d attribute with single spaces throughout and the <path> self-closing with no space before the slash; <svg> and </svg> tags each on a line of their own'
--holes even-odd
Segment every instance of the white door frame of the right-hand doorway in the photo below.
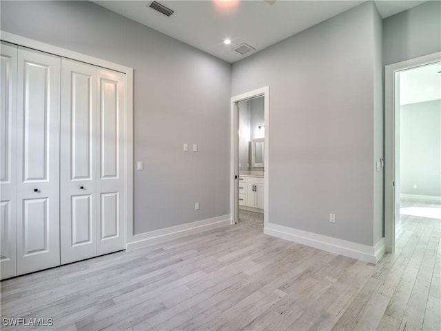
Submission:
<svg viewBox="0 0 441 331">
<path fill-rule="evenodd" d="M 400 187 L 400 179 L 396 176 L 397 151 L 399 143 L 399 117 L 396 114 L 398 101 L 399 81 L 397 74 L 402 70 L 408 70 L 419 66 L 425 66 L 441 61 L 441 52 L 416 57 L 406 61 L 393 63 L 384 67 L 384 238 L 386 252 L 395 252 L 396 229 L 396 199 L 400 197 L 396 188 Z M 398 231 L 397 231 L 398 230 Z M 397 232 L 396 232 L 397 231 Z M 399 233 L 398 233 L 399 234 Z"/>
</svg>

